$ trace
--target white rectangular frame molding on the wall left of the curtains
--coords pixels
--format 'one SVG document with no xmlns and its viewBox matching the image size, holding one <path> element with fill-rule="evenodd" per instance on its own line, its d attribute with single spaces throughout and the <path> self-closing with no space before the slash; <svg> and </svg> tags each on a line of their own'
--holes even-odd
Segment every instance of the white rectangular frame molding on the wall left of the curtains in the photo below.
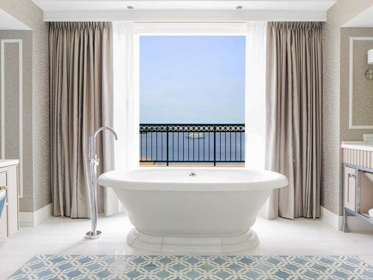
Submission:
<svg viewBox="0 0 373 280">
<path fill-rule="evenodd" d="M 4 74 L 5 74 L 5 53 L 4 53 L 4 45 L 5 43 L 18 43 L 18 122 L 19 122 L 19 131 L 18 131 L 18 140 L 19 140 L 19 197 L 23 197 L 23 47 L 22 47 L 22 39 L 2 39 L 0 41 L 0 58 L 1 58 L 1 65 L 0 65 L 0 79 L 1 79 L 1 88 L 0 88 L 0 98 L 1 98 L 1 159 L 5 159 L 5 81 L 4 81 Z"/>
</svg>

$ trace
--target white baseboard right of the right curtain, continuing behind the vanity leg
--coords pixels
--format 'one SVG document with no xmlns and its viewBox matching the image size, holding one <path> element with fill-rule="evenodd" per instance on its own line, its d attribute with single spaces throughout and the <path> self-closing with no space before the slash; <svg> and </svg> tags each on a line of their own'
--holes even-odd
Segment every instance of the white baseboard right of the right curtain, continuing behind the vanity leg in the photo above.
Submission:
<svg viewBox="0 0 373 280">
<path fill-rule="evenodd" d="M 342 229 L 343 223 L 343 216 L 338 216 L 333 212 L 329 211 L 328 209 L 321 206 L 321 217 L 320 219 L 325 223 L 331 225 L 336 230 Z M 348 228 L 353 231 L 373 231 L 373 225 L 361 220 L 359 217 L 356 216 L 348 216 Z"/>
</svg>

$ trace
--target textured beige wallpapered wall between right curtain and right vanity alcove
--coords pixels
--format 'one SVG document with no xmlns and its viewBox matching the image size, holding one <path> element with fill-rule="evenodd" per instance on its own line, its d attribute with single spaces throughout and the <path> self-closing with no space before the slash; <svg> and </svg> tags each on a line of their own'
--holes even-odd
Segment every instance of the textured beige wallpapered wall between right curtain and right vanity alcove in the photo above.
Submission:
<svg viewBox="0 0 373 280">
<path fill-rule="evenodd" d="M 339 0 L 327 12 L 323 23 L 323 152 L 321 205 L 342 214 L 342 192 L 339 185 L 342 170 L 339 135 L 340 98 L 340 32 L 341 26 L 372 6 L 373 0 Z"/>
</svg>

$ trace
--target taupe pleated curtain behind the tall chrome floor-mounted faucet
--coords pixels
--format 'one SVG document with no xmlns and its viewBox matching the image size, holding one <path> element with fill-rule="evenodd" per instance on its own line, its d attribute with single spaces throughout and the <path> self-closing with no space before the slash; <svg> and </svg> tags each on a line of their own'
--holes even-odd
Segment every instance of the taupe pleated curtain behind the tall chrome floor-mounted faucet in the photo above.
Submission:
<svg viewBox="0 0 373 280">
<path fill-rule="evenodd" d="M 53 215 L 90 217 L 88 137 L 113 126 L 112 23 L 52 22 L 49 53 Z M 114 168 L 113 146 L 98 135 L 97 174 Z M 115 211 L 112 190 L 98 186 L 97 198 L 99 213 Z"/>
</svg>

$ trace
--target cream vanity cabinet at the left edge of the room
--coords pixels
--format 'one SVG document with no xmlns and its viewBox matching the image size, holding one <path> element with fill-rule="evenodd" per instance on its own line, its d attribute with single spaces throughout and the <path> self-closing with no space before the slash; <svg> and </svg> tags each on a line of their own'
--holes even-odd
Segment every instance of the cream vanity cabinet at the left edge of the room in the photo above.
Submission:
<svg viewBox="0 0 373 280">
<path fill-rule="evenodd" d="M 4 166 L 4 162 L 0 161 L 0 186 L 7 187 L 6 201 L 0 218 L 1 242 L 19 230 L 18 164 Z"/>
</svg>

